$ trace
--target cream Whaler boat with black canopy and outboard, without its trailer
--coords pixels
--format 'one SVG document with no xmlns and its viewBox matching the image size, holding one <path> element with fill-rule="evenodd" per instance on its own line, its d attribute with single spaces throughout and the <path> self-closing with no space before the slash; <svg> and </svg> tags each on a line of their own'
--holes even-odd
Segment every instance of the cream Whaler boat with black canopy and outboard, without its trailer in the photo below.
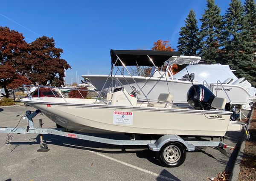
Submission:
<svg viewBox="0 0 256 181">
<path fill-rule="evenodd" d="M 179 52 L 111 50 L 113 66 L 117 63 L 140 64 L 146 57 L 160 56 L 161 61 L 165 61 L 166 57 L 177 58 L 179 55 Z M 165 59 L 161 56 L 165 56 Z M 129 57 L 128 62 L 126 57 Z M 40 109 L 56 124 L 75 131 L 224 136 L 227 131 L 241 130 L 240 124 L 230 121 L 230 116 L 234 113 L 224 110 L 226 99 L 215 98 L 212 92 L 202 85 L 192 86 L 186 95 L 189 104 L 180 105 L 172 103 L 173 96 L 169 93 L 158 94 L 158 102 L 138 101 L 136 96 L 145 93 L 134 87 L 133 91 L 128 93 L 124 87 L 116 86 L 105 98 L 99 94 L 96 100 L 64 98 L 61 95 L 61 88 L 49 89 L 57 90 L 60 98 L 35 98 L 28 94 L 27 98 L 20 101 Z"/>
</svg>

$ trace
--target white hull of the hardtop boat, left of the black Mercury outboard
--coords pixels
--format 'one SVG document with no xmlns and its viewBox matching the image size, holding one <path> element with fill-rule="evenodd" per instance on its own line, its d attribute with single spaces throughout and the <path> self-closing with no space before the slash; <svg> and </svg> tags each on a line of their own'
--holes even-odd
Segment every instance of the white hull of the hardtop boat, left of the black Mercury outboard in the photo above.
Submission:
<svg viewBox="0 0 256 181">
<path fill-rule="evenodd" d="M 93 83 L 93 85 L 101 90 L 108 79 L 108 75 L 82 75 L 83 78 L 88 78 Z M 187 103 L 186 94 L 189 88 L 192 86 L 192 83 L 189 81 L 183 80 L 171 80 L 162 78 L 159 80 L 157 77 L 141 77 L 141 76 L 131 76 L 128 75 L 115 75 L 113 78 L 109 78 L 105 84 L 105 88 L 102 89 L 103 92 L 107 93 L 113 89 L 116 79 L 118 79 L 124 88 L 128 92 L 132 92 L 131 86 L 134 86 L 136 89 L 140 89 L 145 92 L 147 95 L 148 101 L 157 101 L 158 95 L 160 93 L 170 93 L 173 95 L 174 103 Z M 136 83 L 134 82 L 136 81 Z M 157 83 L 157 81 L 159 82 Z M 157 85 L 152 89 L 152 87 L 157 83 Z M 198 84 L 194 82 L 194 84 Z M 113 86 L 112 86 L 113 85 Z M 138 86 L 137 86 L 138 85 Z M 139 88 L 140 87 L 140 88 Z M 144 95 L 138 95 L 140 101 L 147 101 Z"/>
</svg>

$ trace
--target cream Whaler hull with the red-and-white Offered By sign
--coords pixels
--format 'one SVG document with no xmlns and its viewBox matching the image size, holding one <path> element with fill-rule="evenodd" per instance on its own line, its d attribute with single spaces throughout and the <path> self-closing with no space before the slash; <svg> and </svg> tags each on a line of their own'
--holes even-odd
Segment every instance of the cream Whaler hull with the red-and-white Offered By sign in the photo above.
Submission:
<svg viewBox="0 0 256 181">
<path fill-rule="evenodd" d="M 40 109 L 56 124 L 79 132 L 224 136 L 232 114 L 190 109 L 53 103 L 52 99 L 29 101 L 24 98 L 21 101 Z M 121 115 L 116 112 L 121 112 Z M 128 114 L 122 115 L 124 112 Z M 122 122 L 120 116 L 128 121 Z"/>
</svg>

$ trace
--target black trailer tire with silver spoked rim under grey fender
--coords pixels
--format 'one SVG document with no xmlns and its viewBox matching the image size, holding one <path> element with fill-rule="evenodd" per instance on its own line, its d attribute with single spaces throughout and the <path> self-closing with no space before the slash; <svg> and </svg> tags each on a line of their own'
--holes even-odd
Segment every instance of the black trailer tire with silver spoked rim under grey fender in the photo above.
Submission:
<svg viewBox="0 0 256 181">
<path fill-rule="evenodd" d="M 157 159 L 164 167 L 178 167 L 186 159 L 186 149 L 178 142 L 168 142 L 157 152 Z"/>
</svg>

